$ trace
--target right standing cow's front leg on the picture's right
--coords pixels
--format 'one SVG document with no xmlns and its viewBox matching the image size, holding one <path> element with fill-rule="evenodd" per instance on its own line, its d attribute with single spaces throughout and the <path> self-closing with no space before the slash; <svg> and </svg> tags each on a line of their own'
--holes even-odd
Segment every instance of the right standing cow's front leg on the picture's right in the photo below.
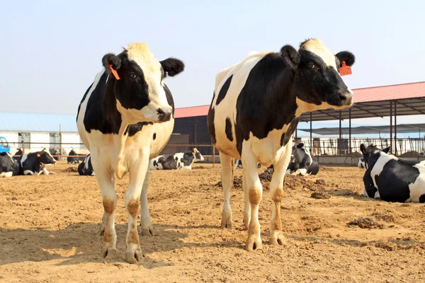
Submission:
<svg viewBox="0 0 425 283">
<path fill-rule="evenodd" d="M 283 156 L 274 165 L 273 176 L 270 182 L 270 193 L 273 203 L 271 204 L 270 238 L 268 239 L 268 243 L 276 246 L 283 245 L 280 201 L 283 197 L 283 180 L 285 180 L 285 169 L 288 168 L 290 154 L 290 146 L 287 145 Z"/>
</svg>

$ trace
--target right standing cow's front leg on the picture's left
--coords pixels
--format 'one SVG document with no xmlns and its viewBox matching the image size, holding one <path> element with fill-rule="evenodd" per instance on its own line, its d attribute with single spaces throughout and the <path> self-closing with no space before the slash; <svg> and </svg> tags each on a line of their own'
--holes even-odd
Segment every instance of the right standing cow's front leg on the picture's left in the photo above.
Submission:
<svg viewBox="0 0 425 283">
<path fill-rule="evenodd" d="M 245 150 L 244 150 L 245 149 Z M 250 149 L 242 149 L 242 164 L 244 164 L 245 190 L 248 191 L 248 200 L 251 206 L 251 219 L 248 226 L 248 238 L 246 240 L 246 250 L 259 250 L 263 248 L 260 235 L 259 204 L 263 187 L 261 186 L 257 161 Z"/>
</svg>

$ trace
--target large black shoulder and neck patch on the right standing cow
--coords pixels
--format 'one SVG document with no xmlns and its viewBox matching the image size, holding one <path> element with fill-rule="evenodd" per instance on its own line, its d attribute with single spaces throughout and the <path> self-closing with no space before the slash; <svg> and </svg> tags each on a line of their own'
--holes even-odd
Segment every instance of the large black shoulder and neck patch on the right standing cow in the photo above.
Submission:
<svg viewBox="0 0 425 283">
<path fill-rule="evenodd" d="M 295 70 L 280 53 L 267 54 L 251 69 L 237 98 L 234 127 L 239 154 L 250 132 L 263 139 L 295 118 L 294 76 Z"/>
</svg>

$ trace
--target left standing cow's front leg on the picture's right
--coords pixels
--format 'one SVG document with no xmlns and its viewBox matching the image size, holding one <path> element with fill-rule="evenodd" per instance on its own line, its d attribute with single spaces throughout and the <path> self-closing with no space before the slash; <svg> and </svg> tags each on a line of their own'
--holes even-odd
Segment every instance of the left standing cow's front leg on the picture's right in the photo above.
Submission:
<svg viewBox="0 0 425 283">
<path fill-rule="evenodd" d="M 139 156 L 136 156 L 134 160 L 134 163 L 130 166 L 130 184 L 125 193 L 125 209 L 128 214 L 125 261 L 128 263 L 136 263 L 142 260 L 142 250 L 140 249 L 139 234 L 137 233 L 137 212 L 139 210 L 142 185 L 149 166 L 149 149 L 141 150 Z"/>
</svg>

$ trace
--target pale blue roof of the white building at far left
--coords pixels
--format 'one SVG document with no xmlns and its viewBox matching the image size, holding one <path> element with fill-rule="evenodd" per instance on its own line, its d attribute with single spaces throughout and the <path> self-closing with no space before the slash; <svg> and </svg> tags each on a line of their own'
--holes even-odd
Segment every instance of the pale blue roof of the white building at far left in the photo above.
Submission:
<svg viewBox="0 0 425 283">
<path fill-rule="evenodd" d="M 74 114 L 0 112 L 0 132 L 78 132 Z"/>
</svg>

